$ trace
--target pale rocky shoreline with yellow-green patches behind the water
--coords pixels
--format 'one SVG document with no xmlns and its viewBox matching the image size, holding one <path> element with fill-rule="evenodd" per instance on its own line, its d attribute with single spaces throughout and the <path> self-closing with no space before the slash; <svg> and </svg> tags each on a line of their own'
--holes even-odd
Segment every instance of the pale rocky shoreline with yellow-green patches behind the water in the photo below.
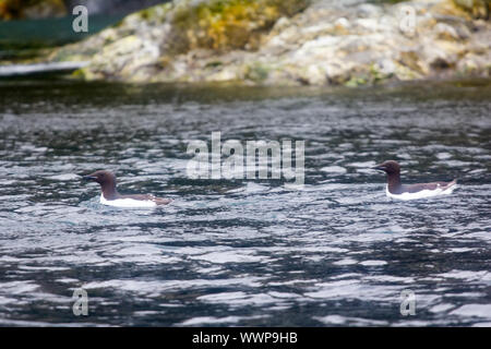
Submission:
<svg viewBox="0 0 491 349">
<path fill-rule="evenodd" d="M 487 0 L 179 0 L 57 49 L 87 81 L 372 85 L 489 79 Z"/>
</svg>

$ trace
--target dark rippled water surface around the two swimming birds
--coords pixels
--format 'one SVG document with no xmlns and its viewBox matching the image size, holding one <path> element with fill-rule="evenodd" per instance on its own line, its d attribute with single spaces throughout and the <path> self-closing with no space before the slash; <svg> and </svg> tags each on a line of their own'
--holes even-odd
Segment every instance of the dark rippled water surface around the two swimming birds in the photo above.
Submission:
<svg viewBox="0 0 491 349">
<path fill-rule="evenodd" d="M 489 326 L 490 96 L 2 82 L 0 325 Z M 306 185 L 188 178 L 188 144 L 213 131 L 306 141 Z M 459 188 L 393 202 L 369 169 L 385 159 Z M 101 206 L 79 177 L 96 169 L 173 202 Z"/>
</svg>

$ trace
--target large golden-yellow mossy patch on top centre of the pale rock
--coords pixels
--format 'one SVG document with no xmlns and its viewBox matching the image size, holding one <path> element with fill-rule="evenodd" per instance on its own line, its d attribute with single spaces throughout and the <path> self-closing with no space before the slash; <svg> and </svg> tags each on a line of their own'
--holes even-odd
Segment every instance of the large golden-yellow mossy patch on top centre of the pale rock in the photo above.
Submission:
<svg viewBox="0 0 491 349">
<path fill-rule="evenodd" d="M 309 0 L 212 0 L 177 3 L 167 49 L 182 53 L 196 48 L 254 50 L 261 36 L 282 16 L 307 8 Z"/>
</svg>

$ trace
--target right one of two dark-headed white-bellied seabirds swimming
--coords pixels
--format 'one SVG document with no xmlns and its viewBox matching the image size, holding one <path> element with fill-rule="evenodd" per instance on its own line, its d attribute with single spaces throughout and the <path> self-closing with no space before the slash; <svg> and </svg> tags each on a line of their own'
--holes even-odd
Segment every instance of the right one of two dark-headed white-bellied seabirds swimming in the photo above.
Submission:
<svg viewBox="0 0 491 349">
<path fill-rule="evenodd" d="M 394 160 L 382 163 L 372 167 L 372 169 L 387 173 L 387 186 L 385 188 L 385 193 L 393 198 L 414 200 L 451 194 L 457 186 L 456 179 L 452 182 L 403 184 L 400 182 L 400 166 Z"/>
</svg>

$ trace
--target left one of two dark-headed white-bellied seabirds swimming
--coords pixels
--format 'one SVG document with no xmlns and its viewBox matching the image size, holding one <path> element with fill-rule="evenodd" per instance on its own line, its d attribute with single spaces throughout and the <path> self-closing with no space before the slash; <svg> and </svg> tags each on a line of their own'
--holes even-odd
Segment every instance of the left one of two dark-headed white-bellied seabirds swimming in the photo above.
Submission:
<svg viewBox="0 0 491 349">
<path fill-rule="evenodd" d="M 117 207 L 155 207 L 170 203 L 168 198 L 155 197 L 151 194 L 121 195 L 116 189 L 116 176 L 110 171 L 96 171 L 83 177 L 84 180 L 100 184 L 103 205 Z"/>
</svg>

